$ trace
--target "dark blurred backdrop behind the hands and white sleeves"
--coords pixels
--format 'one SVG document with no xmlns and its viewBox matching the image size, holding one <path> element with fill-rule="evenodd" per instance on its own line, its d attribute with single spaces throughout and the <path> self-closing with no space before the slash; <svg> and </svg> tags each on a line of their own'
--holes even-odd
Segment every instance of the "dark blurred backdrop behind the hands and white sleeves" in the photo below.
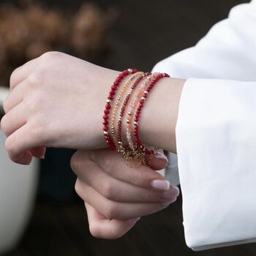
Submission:
<svg viewBox="0 0 256 256">
<path fill-rule="evenodd" d="M 6 3 L 15 4 L 25 12 L 28 4 L 33 2 L 2 0 L 0 6 Z M 108 17 L 109 24 L 99 33 L 100 36 L 95 35 L 97 38 L 89 42 L 87 45 L 89 51 L 75 48 L 72 42 L 66 45 L 63 36 L 58 43 L 56 38 L 53 38 L 53 42 L 45 41 L 45 45 L 40 43 L 33 45 L 34 51 L 27 52 L 26 56 L 20 56 L 20 62 L 26 61 L 29 56 L 39 54 L 42 50 L 56 48 L 111 69 L 136 67 L 150 71 L 157 61 L 178 50 L 195 45 L 214 23 L 227 17 L 231 7 L 248 1 L 49 0 L 37 2 L 48 8 L 46 10 L 49 12 L 50 10 L 61 12 L 66 22 L 69 21 L 68 17 L 74 16 L 85 2 L 96 4 L 102 15 L 108 13 L 113 17 Z M 64 26 L 64 23 L 61 24 L 61 27 Z M 97 26 L 100 24 L 97 23 Z M 102 40 L 102 38 L 104 38 L 103 45 L 97 45 L 97 39 Z M 79 46 L 80 42 L 76 43 Z M 95 45 L 97 47 L 94 48 Z M 5 61 L 10 64 L 10 69 L 20 64 L 12 58 Z M 10 69 L 0 72 L 5 72 L 8 76 Z M 142 217 L 129 233 L 116 241 L 92 237 L 83 202 L 74 191 L 75 175 L 69 167 L 69 160 L 74 152 L 68 148 L 48 148 L 45 159 L 41 160 L 37 201 L 31 221 L 18 247 L 5 256 L 255 255 L 255 244 L 228 246 L 203 252 L 193 252 L 189 249 L 184 241 L 182 195 L 164 211 Z"/>
</svg>

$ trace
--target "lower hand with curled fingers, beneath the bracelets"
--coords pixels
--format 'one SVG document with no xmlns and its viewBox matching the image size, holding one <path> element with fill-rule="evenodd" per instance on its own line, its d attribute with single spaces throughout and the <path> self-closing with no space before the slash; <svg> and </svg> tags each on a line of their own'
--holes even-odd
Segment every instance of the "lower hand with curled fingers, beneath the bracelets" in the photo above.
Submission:
<svg viewBox="0 0 256 256">
<path fill-rule="evenodd" d="M 161 211 L 176 200 L 178 190 L 155 171 L 167 165 L 162 156 L 152 159 L 151 169 L 130 168 L 109 149 L 75 152 L 70 161 L 78 176 L 75 191 L 85 202 L 92 236 L 119 238 L 139 217 Z"/>
</svg>

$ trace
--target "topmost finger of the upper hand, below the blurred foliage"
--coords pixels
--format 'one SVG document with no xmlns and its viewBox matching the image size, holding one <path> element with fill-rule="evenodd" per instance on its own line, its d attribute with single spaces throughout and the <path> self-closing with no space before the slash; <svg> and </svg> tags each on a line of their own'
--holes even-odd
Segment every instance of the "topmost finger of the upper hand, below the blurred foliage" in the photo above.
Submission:
<svg viewBox="0 0 256 256">
<path fill-rule="evenodd" d="M 32 59 L 31 61 L 26 62 L 22 66 L 16 68 L 10 77 L 10 91 L 12 91 L 15 86 L 25 80 L 31 72 L 37 69 L 39 58 Z"/>
</svg>

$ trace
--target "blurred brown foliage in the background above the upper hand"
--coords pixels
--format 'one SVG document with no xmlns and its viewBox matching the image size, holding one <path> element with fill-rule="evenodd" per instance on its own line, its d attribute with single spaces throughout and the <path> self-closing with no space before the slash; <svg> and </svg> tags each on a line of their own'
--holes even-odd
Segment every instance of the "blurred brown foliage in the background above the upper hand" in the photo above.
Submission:
<svg viewBox="0 0 256 256">
<path fill-rule="evenodd" d="M 108 47 L 106 33 L 115 19 L 116 10 L 89 2 L 75 13 L 29 0 L 0 4 L 0 84 L 8 85 L 15 67 L 49 50 L 93 59 Z"/>
</svg>

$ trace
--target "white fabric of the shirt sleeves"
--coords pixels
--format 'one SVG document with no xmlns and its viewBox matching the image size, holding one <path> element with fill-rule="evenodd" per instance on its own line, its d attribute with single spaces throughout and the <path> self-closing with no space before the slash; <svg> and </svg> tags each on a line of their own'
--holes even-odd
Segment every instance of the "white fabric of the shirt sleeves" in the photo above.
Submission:
<svg viewBox="0 0 256 256">
<path fill-rule="evenodd" d="M 187 246 L 256 241 L 256 0 L 152 72 L 187 78 L 165 169 L 180 184 Z M 178 162 L 177 162 L 178 160 Z"/>
</svg>

